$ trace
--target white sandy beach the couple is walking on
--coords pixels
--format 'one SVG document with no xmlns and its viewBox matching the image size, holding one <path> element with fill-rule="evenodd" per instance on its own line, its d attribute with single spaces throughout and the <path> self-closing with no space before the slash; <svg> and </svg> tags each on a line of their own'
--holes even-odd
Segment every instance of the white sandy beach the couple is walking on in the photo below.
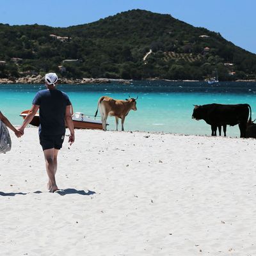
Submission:
<svg viewBox="0 0 256 256">
<path fill-rule="evenodd" d="M 256 140 L 76 131 L 48 193 L 35 128 L 0 154 L 1 255 L 255 255 Z"/>
</svg>

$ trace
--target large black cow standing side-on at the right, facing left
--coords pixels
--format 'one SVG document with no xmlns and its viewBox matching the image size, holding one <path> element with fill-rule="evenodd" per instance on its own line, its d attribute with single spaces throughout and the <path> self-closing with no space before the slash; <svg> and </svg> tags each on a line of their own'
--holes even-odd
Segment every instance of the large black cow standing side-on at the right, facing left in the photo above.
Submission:
<svg viewBox="0 0 256 256">
<path fill-rule="evenodd" d="M 209 125 L 218 127 L 220 125 L 239 125 L 240 137 L 246 138 L 246 124 L 250 111 L 249 122 L 252 121 L 252 109 L 249 104 L 223 105 L 206 104 L 202 106 L 195 105 L 192 118 L 196 120 L 205 120 Z"/>
</svg>

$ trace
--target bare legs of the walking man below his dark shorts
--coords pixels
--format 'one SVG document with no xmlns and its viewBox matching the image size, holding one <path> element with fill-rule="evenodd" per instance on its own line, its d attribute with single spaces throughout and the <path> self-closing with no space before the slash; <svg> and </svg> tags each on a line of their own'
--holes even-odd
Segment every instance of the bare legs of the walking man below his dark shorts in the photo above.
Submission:
<svg viewBox="0 0 256 256">
<path fill-rule="evenodd" d="M 46 167 L 46 172 L 47 175 L 49 177 L 49 183 L 48 183 L 48 188 L 49 188 L 49 192 L 54 192 L 56 190 L 58 190 L 58 186 L 56 184 L 56 180 L 55 180 L 55 173 L 57 170 L 57 164 L 55 167 L 55 163 L 54 163 L 54 156 L 56 156 L 56 160 L 55 162 L 57 163 L 57 155 L 58 152 L 56 152 L 54 154 L 55 149 L 54 148 L 50 148 L 50 149 L 45 149 L 44 150 L 44 158 L 45 158 L 45 167 Z"/>
</svg>

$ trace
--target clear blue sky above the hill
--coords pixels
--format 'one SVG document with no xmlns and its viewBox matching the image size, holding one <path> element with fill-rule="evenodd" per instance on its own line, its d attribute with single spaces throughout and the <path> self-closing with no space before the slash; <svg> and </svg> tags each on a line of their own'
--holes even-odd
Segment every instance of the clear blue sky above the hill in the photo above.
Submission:
<svg viewBox="0 0 256 256">
<path fill-rule="evenodd" d="M 0 0 L 0 23 L 68 27 L 132 9 L 168 13 L 256 53 L 256 0 Z"/>
</svg>

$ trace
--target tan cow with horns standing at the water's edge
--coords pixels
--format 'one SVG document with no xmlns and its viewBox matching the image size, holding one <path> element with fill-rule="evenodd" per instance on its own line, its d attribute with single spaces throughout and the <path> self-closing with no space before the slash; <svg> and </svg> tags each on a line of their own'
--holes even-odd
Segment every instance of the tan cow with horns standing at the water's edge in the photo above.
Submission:
<svg viewBox="0 0 256 256">
<path fill-rule="evenodd" d="M 136 98 L 138 99 L 138 97 Z M 128 115 L 129 111 L 132 109 L 134 111 L 136 108 L 136 99 L 130 98 L 126 100 L 114 100 L 108 96 L 100 97 L 98 101 L 98 108 L 95 113 L 95 117 L 97 116 L 98 109 L 100 109 L 102 128 L 106 131 L 107 128 L 107 118 L 108 116 L 115 116 L 116 118 L 116 131 L 118 131 L 118 118 L 122 120 L 122 131 L 124 131 L 124 120 L 125 116 Z"/>
</svg>

